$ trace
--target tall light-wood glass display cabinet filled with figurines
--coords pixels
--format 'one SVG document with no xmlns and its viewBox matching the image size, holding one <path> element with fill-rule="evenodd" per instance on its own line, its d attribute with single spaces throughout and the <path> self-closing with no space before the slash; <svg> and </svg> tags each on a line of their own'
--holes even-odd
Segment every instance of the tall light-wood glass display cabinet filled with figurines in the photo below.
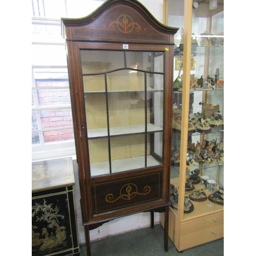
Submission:
<svg viewBox="0 0 256 256">
<path fill-rule="evenodd" d="M 211 1 L 178 2 L 165 1 L 166 24 L 180 28 L 169 237 L 183 251 L 224 236 L 224 2 L 216 8 Z"/>
</svg>

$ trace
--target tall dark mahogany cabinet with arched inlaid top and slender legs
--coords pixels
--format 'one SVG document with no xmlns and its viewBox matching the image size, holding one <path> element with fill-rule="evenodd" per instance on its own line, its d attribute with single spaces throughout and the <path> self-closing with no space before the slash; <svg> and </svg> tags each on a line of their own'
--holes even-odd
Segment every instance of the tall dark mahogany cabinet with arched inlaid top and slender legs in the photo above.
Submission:
<svg viewBox="0 0 256 256">
<path fill-rule="evenodd" d="M 167 250 L 174 34 L 138 1 L 62 18 L 81 209 L 90 255 L 97 225 L 165 212 Z"/>
</svg>

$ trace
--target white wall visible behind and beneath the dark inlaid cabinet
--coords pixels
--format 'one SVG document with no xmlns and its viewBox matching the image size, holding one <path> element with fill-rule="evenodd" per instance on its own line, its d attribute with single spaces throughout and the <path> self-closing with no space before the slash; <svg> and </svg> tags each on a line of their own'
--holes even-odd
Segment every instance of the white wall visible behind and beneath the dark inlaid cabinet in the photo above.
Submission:
<svg viewBox="0 0 256 256">
<path fill-rule="evenodd" d="M 141 0 L 140 1 L 152 15 L 161 23 L 163 23 L 163 0 Z M 75 175 L 75 205 L 78 225 L 79 244 L 85 243 L 84 227 L 82 226 L 81 207 L 80 207 L 80 189 L 78 181 L 78 170 L 76 160 L 74 160 L 74 175 Z M 160 223 L 161 214 L 155 213 L 155 224 Z M 91 241 L 103 239 L 116 234 L 127 231 L 144 228 L 150 226 L 150 212 L 141 212 L 140 214 L 131 215 L 128 217 L 118 218 L 108 223 L 104 223 L 99 228 L 90 231 Z"/>
</svg>

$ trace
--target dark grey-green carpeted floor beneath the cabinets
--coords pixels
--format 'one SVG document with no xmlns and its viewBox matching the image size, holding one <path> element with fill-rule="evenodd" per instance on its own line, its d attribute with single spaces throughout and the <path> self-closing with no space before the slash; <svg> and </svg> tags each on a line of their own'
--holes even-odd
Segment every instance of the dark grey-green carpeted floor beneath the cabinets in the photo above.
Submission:
<svg viewBox="0 0 256 256">
<path fill-rule="evenodd" d="M 91 243 L 92 256 L 221 256 L 224 255 L 224 239 L 216 240 L 178 252 L 168 240 L 168 251 L 164 251 L 164 230 L 160 224 L 118 234 Z M 87 256 L 86 245 L 80 246 L 80 256 Z"/>
</svg>

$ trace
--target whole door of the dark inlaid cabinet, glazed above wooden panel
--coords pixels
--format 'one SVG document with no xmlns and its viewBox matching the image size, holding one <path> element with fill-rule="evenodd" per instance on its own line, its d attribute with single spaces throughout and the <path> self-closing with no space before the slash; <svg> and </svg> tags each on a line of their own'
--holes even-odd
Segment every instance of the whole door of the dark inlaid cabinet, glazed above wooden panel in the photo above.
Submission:
<svg viewBox="0 0 256 256">
<path fill-rule="evenodd" d="M 72 42 L 70 48 L 76 56 L 70 68 L 79 71 L 70 77 L 88 220 L 169 204 L 167 46 Z"/>
</svg>

